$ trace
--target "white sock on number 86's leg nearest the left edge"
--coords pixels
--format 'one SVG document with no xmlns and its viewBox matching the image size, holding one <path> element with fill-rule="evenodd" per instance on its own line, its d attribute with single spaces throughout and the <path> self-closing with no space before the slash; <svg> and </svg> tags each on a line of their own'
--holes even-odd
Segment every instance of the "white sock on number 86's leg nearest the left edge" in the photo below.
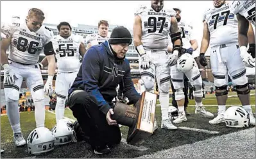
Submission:
<svg viewBox="0 0 256 159">
<path fill-rule="evenodd" d="M 13 133 L 21 133 L 18 105 L 19 101 L 6 102 L 6 113 L 11 124 Z"/>
</svg>

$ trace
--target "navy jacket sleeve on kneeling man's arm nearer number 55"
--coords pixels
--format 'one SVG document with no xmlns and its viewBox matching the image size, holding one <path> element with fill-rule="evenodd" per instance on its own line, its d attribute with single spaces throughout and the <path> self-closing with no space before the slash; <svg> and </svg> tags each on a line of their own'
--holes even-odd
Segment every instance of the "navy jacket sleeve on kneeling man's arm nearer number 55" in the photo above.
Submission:
<svg viewBox="0 0 256 159">
<path fill-rule="evenodd" d="M 99 92 L 99 76 L 100 76 L 100 57 L 95 48 L 90 48 L 85 54 L 82 62 L 83 85 L 85 91 L 92 97 L 95 97 L 99 110 L 107 114 L 110 105 Z"/>
</svg>

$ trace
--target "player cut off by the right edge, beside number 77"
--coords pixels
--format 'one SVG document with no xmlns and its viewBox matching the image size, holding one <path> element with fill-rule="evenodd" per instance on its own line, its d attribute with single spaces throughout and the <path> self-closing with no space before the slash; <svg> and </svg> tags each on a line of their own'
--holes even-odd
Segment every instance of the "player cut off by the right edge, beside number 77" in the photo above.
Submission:
<svg viewBox="0 0 256 159">
<path fill-rule="evenodd" d="M 255 0 L 253 1 L 232 1 L 232 11 L 237 17 L 238 21 L 238 41 L 240 46 L 241 54 L 246 54 L 247 44 L 249 41 L 248 53 L 252 55 L 252 58 L 255 58 L 255 36 L 252 29 L 252 25 L 255 26 Z M 248 30 L 249 28 L 249 30 Z M 252 39 L 248 40 L 248 36 L 252 34 Z M 248 55 L 248 54 L 247 54 Z M 255 60 L 250 59 L 250 56 L 243 56 L 243 62 L 247 65 L 255 65 Z M 250 66 L 249 66 L 250 67 Z"/>
</svg>

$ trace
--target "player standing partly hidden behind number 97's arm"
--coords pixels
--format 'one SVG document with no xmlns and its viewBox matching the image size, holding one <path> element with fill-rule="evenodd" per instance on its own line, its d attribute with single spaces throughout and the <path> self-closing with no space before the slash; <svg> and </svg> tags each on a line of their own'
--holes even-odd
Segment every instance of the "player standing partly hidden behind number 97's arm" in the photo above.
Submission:
<svg viewBox="0 0 256 159">
<path fill-rule="evenodd" d="M 173 8 L 176 11 L 176 19 L 178 21 L 178 28 L 182 33 L 182 43 L 183 49 L 182 54 L 189 54 L 190 58 L 194 61 L 194 66 L 188 72 L 181 72 L 178 70 L 177 65 L 173 65 L 171 67 L 171 82 L 173 83 L 173 87 L 175 88 L 175 100 L 178 104 L 178 118 L 173 122 L 180 123 L 183 121 L 187 121 L 187 117 L 184 110 L 185 96 L 184 96 L 184 84 L 183 84 L 183 76 L 187 76 L 189 82 L 194 87 L 194 99 L 196 101 L 196 110 L 195 113 L 203 115 L 204 117 L 214 117 L 214 115 L 210 112 L 207 112 L 202 104 L 203 99 L 203 89 L 202 89 L 202 78 L 200 71 L 198 69 L 198 65 L 194 58 L 197 56 L 194 51 L 198 48 L 198 42 L 194 37 L 193 28 L 190 24 L 187 24 L 186 21 L 181 21 L 182 17 L 180 15 L 181 10 L 179 8 Z"/>
</svg>

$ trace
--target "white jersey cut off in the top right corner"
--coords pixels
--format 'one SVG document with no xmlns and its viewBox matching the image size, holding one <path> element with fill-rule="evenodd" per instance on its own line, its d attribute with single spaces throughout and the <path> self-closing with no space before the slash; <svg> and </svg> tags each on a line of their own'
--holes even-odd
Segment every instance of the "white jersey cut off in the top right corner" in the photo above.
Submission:
<svg viewBox="0 0 256 159">
<path fill-rule="evenodd" d="M 243 15 L 248 21 L 255 26 L 255 0 L 232 1 L 232 10 L 234 14 Z"/>
</svg>

